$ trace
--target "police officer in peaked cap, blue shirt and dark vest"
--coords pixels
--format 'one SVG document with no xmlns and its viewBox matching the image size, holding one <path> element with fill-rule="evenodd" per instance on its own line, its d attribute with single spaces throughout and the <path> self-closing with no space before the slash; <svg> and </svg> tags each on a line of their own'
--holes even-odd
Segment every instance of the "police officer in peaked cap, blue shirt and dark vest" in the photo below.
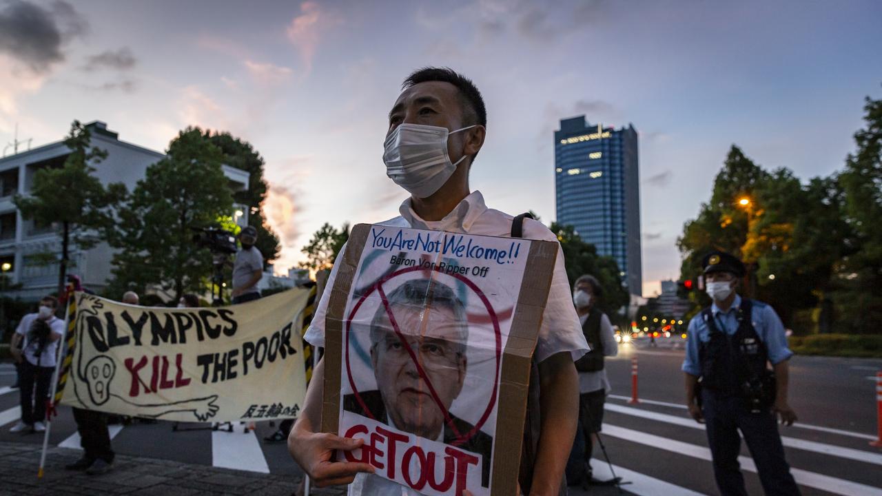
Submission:
<svg viewBox="0 0 882 496">
<path fill-rule="evenodd" d="M 714 303 L 689 323 L 683 372 L 689 413 L 706 423 L 717 487 L 724 496 L 747 494 L 738 465 L 741 431 L 766 494 L 799 494 L 775 422 L 775 415 L 786 425 L 796 421 L 787 402 L 793 352 L 781 319 L 771 306 L 738 296 L 741 260 L 711 252 L 701 265 Z"/>
</svg>

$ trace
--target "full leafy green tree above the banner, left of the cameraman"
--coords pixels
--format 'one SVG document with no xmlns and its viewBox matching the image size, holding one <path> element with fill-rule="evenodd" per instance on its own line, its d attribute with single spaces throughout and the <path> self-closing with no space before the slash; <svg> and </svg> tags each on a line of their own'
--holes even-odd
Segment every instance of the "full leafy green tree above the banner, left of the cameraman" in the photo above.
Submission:
<svg viewBox="0 0 882 496">
<path fill-rule="evenodd" d="M 201 130 L 188 127 L 168 145 L 166 157 L 147 168 L 120 208 L 119 222 L 108 229 L 119 249 L 109 290 L 157 286 L 177 300 L 206 288 L 212 256 L 193 243 L 193 229 L 216 225 L 232 210 L 224 158 Z"/>
</svg>

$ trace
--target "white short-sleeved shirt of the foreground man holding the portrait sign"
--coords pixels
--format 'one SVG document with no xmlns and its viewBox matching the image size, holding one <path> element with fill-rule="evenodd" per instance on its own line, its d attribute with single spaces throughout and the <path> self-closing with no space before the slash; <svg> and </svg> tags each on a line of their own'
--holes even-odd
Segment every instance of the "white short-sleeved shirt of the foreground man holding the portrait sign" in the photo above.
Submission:
<svg viewBox="0 0 882 496">
<path fill-rule="evenodd" d="M 440 221 L 423 221 L 414 212 L 409 198 L 401 204 L 399 213 L 400 216 L 385 222 L 378 222 L 378 224 L 398 228 L 444 230 L 477 236 L 510 237 L 512 233 L 512 215 L 488 208 L 484 204 L 481 192 L 477 191 L 472 192 L 460 201 L 460 204 Z M 542 222 L 537 222 L 533 219 L 524 219 L 523 237 L 525 239 L 557 242 L 557 237 L 554 233 L 546 228 Z M 337 260 L 342 259 L 343 251 L 345 250 L 346 246 L 340 250 Z M 326 288 L 333 288 L 338 267 L 339 264 L 335 263 L 328 277 Z M 321 301 L 318 303 L 318 308 L 310 323 L 310 327 L 303 336 L 303 339 L 313 346 L 325 346 L 325 316 L 330 295 L 331 291 L 325 290 Z M 585 335 L 582 333 L 579 316 L 576 314 L 572 304 L 572 289 L 566 277 L 564 253 L 558 246 L 554 275 L 551 279 L 549 297 L 545 304 L 545 312 L 542 315 L 542 327 L 539 330 L 539 339 L 536 343 L 535 359 L 539 363 L 556 353 L 567 351 L 571 354 L 573 360 L 577 360 L 587 350 L 588 344 Z M 374 486 L 368 483 L 368 477 L 366 476 L 367 474 L 359 474 L 355 477 L 355 482 L 349 485 L 348 488 L 350 496 L 367 494 L 363 492 L 365 485 Z M 401 496 L 415 496 L 419 494 L 419 492 L 392 482 L 379 486 L 383 487 L 382 492 L 384 494 L 391 493 L 390 490 L 393 488 L 400 488 Z M 371 491 L 371 493 L 374 493 L 374 491 Z"/>
</svg>

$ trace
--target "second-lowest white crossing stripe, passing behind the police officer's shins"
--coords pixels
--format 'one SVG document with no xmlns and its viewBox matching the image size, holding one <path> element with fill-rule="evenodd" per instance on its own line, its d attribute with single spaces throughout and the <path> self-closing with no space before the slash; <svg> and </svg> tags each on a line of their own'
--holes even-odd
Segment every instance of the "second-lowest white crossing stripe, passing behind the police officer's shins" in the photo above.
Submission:
<svg viewBox="0 0 882 496">
<path fill-rule="evenodd" d="M 602 432 L 614 438 L 639 443 L 657 449 L 663 449 L 680 455 L 691 456 L 692 458 L 706 460 L 707 462 L 713 461 L 711 450 L 706 447 L 700 447 L 677 440 L 669 440 L 668 438 L 647 434 L 646 432 L 634 431 L 633 429 L 626 429 L 617 425 L 604 424 Z M 757 466 L 750 457 L 738 456 L 738 462 L 741 463 L 742 469 L 756 473 Z M 871 485 L 864 485 L 841 478 L 829 477 L 808 470 L 794 469 L 793 467 L 790 468 L 790 473 L 793 475 L 793 478 L 796 479 L 796 484 L 813 487 L 815 489 L 820 489 L 821 491 L 833 492 L 834 494 L 843 494 L 846 496 L 852 494 L 882 496 L 882 489 L 872 487 Z"/>
</svg>

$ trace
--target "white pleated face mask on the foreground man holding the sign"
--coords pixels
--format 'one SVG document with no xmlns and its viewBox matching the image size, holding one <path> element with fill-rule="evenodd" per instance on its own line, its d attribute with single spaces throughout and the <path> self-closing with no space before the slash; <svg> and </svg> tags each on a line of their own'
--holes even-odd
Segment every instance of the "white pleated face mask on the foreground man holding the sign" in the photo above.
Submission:
<svg viewBox="0 0 882 496">
<path fill-rule="evenodd" d="M 450 162 L 447 138 L 475 125 L 448 132 L 447 128 L 434 125 L 399 124 L 385 140 L 386 176 L 416 198 L 430 197 L 466 158 L 463 155 L 456 163 Z"/>
</svg>

